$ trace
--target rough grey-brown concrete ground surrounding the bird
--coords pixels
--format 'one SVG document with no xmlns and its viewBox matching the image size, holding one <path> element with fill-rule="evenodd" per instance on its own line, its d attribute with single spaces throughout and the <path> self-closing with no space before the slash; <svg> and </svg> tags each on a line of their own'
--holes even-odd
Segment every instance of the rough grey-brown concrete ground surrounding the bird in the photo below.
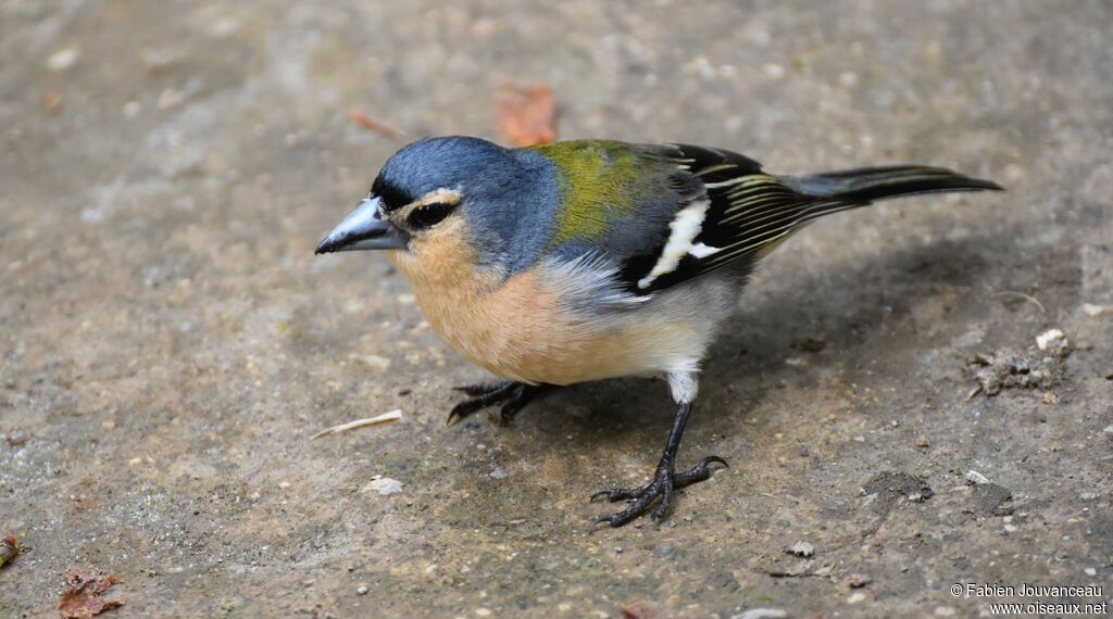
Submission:
<svg viewBox="0 0 1113 619">
<path fill-rule="evenodd" d="M 1109 601 L 1113 6 L 441 4 L 0 2 L 0 536 L 22 550 L 0 616 L 52 616 L 90 565 L 119 577 L 118 617 L 1066 601 L 949 592 L 995 582 Z M 916 161 L 1008 192 L 786 243 L 715 346 L 680 455 L 731 468 L 661 528 L 588 535 L 610 509 L 590 492 L 656 463 L 664 385 L 446 428 L 449 388 L 482 372 L 382 257 L 313 256 L 391 152 L 498 139 L 492 93 L 535 81 L 565 139 L 789 173 Z M 1052 328 L 1068 347 L 1036 350 Z M 974 371 L 996 375 L 971 397 Z"/>
</svg>

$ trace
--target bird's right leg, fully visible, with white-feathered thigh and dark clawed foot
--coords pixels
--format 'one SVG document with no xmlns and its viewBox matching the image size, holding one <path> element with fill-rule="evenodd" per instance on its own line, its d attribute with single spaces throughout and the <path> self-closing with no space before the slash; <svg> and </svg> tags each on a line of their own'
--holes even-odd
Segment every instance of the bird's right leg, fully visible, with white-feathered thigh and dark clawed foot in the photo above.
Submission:
<svg viewBox="0 0 1113 619">
<path fill-rule="evenodd" d="M 691 415 L 691 400 L 696 396 L 696 379 L 693 375 L 670 375 L 669 385 L 672 388 L 673 397 L 677 399 L 677 412 L 672 418 L 672 428 L 669 429 L 669 438 L 664 441 L 664 453 L 661 455 L 661 461 L 657 465 L 653 478 L 637 488 L 611 488 L 593 493 L 591 496 L 592 500 L 598 497 L 607 497 L 611 501 L 630 500 L 630 505 L 622 511 L 595 518 L 591 522 L 591 528 L 594 528 L 600 522 L 607 522 L 611 527 L 621 527 L 649 511 L 650 506 L 658 498 L 660 498 L 660 505 L 653 510 L 651 517 L 654 521 L 660 521 L 669 508 L 669 503 L 672 502 L 673 490 L 710 478 L 711 470 L 709 466 L 712 462 L 727 466 L 727 461 L 722 458 L 708 456 L 691 469 L 680 473 L 676 472 L 677 451 L 680 449 L 680 439 L 684 433 L 688 417 Z"/>
</svg>

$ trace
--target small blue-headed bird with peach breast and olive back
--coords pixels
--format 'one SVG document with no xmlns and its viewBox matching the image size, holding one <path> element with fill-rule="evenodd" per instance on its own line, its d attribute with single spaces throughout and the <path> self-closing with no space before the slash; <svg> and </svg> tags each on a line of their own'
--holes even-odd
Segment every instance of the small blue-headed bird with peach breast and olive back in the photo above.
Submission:
<svg viewBox="0 0 1113 619">
<path fill-rule="evenodd" d="M 506 149 L 467 137 L 404 147 L 316 253 L 385 250 L 433 329 L 502 382 L 457 389 L 449 422 L 501 405 L 509 421 L 546 388 L 663 375 L 676 403 L 664 452 L 621 527 L 703 481 L 677 472 L 700 362 L 758 259 L 825 214 L 884 198 L 1001 190 L 943 168 L 780 176 L 736 152 L 575 140 Z"/>
</svg>

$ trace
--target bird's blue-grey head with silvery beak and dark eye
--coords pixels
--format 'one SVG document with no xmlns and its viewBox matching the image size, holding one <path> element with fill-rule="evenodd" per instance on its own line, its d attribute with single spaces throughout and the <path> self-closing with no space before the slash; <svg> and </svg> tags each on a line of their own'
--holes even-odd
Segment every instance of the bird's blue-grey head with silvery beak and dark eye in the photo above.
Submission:
<svg viewBox="0 0 1113 619">
<path fill-rule="evenodd" d="M 452 234 L 464 237 L 480 266 L 512 272 L 552 237 L 556 203 L 552 164 L 533 151 L 455 136 L 421 140 L 386 161 L 316 253 L 420 252 Z"/>
</svg>

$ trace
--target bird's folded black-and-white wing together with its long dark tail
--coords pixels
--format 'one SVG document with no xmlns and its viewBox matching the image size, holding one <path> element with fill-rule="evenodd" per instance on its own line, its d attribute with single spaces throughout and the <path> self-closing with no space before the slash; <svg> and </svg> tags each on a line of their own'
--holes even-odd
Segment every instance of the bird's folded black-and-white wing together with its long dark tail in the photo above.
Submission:
<svg viewBox="0 0 1113 619">
<path fill-rule="evenodd" d="M 627 260 L 622 278 L 644 294 L 731 264 L 745 276 L 757 258 L 816 218 L 874 200 L 942 191 L 1001 190 L 945 168 L 888 166 L 805 177 L 772 176 L 757 161 L 703 147 L 642 147 L 674 166 L 677 214 L 663 243 Z"/>
</svg>

